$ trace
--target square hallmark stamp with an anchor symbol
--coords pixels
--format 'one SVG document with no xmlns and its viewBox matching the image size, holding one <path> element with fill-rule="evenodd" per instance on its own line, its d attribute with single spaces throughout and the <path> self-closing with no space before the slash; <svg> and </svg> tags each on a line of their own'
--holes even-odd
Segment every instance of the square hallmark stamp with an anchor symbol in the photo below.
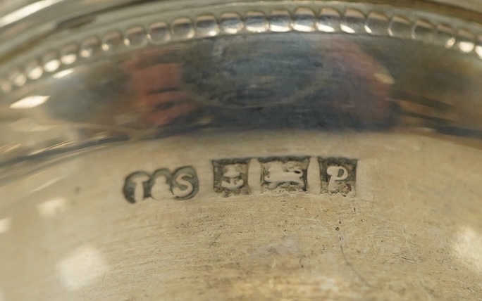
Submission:
<svg viewBox="0 0 482 301">
<path fill-rule="evenodd" d="M 247 195 L 249 159 L 213 160 L 214 191 L 222 196 Z"/>
</svg>

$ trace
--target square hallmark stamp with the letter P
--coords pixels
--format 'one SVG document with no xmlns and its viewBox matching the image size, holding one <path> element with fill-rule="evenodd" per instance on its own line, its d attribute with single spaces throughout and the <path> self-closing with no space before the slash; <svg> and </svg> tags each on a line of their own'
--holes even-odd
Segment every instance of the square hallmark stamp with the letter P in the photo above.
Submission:
<svg viewBox="0 0 482 301">
<path fill-rule="evenodd" d="M 357 181 L 357 160 L 319 158 L 321 193 L 354 195 Z"/>
</svg>

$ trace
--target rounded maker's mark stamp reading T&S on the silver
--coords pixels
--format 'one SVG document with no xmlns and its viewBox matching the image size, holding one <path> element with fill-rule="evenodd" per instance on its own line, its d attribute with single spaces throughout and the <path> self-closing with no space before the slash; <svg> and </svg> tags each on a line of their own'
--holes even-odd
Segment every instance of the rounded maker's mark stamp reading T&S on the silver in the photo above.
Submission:
<svg viewBox="0 0 482 301">
<path fill-rule="evenodd" d="M 154 174 L 134 172 L 125 178 L 123 194 L 129 203 L 138 203 L 147 198 L 160 200 L 171 194 L 176 200 L 189 200 L 199 191 L 199 179 L 193 167 L 180 167 L 170 172 L 158 169 Z"/>
</svg>

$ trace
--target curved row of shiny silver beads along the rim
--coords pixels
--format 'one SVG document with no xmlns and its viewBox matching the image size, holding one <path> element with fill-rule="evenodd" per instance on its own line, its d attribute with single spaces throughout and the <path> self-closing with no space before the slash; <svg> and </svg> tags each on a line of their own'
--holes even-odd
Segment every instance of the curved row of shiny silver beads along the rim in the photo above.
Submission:
<svg viewBox="0 0 482 301">
<path fill-rule="evenodd" d="M 279 5 L 279 4 L 277 4 Z M 381 8 L 387 8 L 382 6 Z M 390 7 L 393 8 L 393 7 Z M 297 6 L 294 13 L 277 8 L 271 13 L 247 11 L 246 13 L 221 13 L 198 15 L 195 20 L 175 18 L 172 22 L 156 21 L 147 26 L 132 25 L 126 30 L 110 30 L 101 37 L 90 36 L 79 43 L 65 44 L 58 51 L 48 51 L 28 60 L 25 65 L 13 68 L 0 77 L 0 92 L 8 94 L 47 75 L 62 77 L 75 63 L 94 58 L 102 53 L 109 55 L 119 51 L 139 49 L 148 45 L 169 44 L 175 41 L 204 39 L 234 34 L 260 34 L 276 32 L 321 32 L 365 34 L 392 37 L 433 44 L 462 53 L 476 53 L 482 59 L 482 34 L 475 34 L 465 27 L 455 28 L 448 22 L 436 22 L 428 18 L 413 20 L 407 15 L 371 11 L 363 13 L 357 8 L 344 11 L 321 5 L 319 12 L 305 6 Z"/>
</svg>

